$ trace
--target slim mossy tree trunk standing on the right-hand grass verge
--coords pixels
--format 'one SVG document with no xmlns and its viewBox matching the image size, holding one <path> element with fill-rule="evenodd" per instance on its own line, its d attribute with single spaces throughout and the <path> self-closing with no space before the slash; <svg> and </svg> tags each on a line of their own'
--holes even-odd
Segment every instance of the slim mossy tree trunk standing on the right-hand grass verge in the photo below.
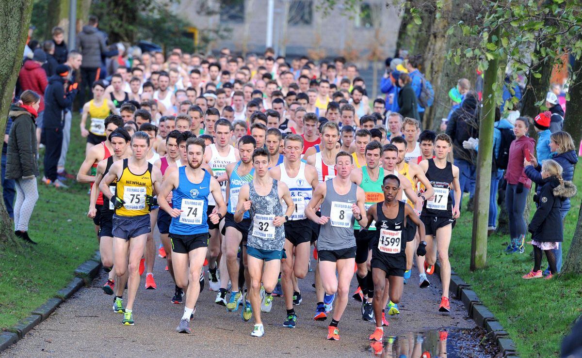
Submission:
<svg viewBox="0 0 582 358">
<path fill-rule="evenodd" d="M 489 37 L 498 45 L 499 27 Z M 483 108 L 479 123 L 479 152 L 477 154 L 477 185 L 475 185 L 475 209 L 473 210 L 473 235 L 471 237 L 471 271 L 487 265 L 487 225 L 489 217 L 489 188 L 491 187 L 491 160 L 493 156 L 493 124 L 495 121 L 496 91 L 499 58 L 489 60 L 483 84 Z"/>
</svg>

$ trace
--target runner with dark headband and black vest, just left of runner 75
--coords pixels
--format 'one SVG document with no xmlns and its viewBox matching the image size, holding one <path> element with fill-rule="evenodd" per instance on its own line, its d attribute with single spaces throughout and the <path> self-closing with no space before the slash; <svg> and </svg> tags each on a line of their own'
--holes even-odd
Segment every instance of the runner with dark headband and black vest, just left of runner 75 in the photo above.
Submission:
<svg viewBox="0 0 582 358">
<path fill-rule="evenodd" d="M 123 128 L 118 128 L 109 134 L 109 142 L 113 148 L 113 155 L 107 159 L 101 160 L 97 164 L 97 172 L 95 173 L 95 185 L 91 187 L 91 199 L 89 202 L 89 211 L 87 216 L 94 219 L 97 216 L 97 202 L 98 196 L 101 194 L 99 184 L 101 179 L 112 166 L 114 162 L 125 159 L 127 157 L 127 146 L 131 137 Z M 113 187 L 115 187 L 113 185 Z M 108 280 L 103 286 L 103 291 L 107 295 L 113 295 L 115 291 L 115 271 L 113 271 L 113 205 L 107 199 L 102 198 L 103 205 L 100 206 L 100 223 L 99 223 L 99 252 L 101 254 L 101 263 L 103 269 L 109 273 Z M 118 287 L 115 298 L 113 299 L 113 311 L 123 313 L 123 290 L 127 282 L 127 275 L 117 279 Z"/>
</svg>

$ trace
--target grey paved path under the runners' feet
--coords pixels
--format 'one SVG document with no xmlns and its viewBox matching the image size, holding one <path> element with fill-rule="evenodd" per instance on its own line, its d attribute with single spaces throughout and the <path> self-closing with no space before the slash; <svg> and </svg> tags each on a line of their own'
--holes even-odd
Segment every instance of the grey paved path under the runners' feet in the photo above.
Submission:
<svg viewBox="0 0 582 358">
<path fill-rule="evenodd" d="M 112 296 L 104 295 L 101 285 L 105 275 L 95 279 L 91 287 L 82 288 L 44 321 L 5 350 L 2 356 L 370 356 L 368 335 L 374 324 L 361 320 L 361 304 L 350 298 L 340 321 L 340 341 L 327 341 L 327 325 L 314 321 L 314 273 L 300 280 L 303 303 L 296 307 L 299 316 L 294 330 L 282 327 L 285 307 L 282 298 L 275 298 L 271 313 L 263 314 L 265 336 L 250 336 L 252 320 L 245 323 L 237 313 L 214 303 L 215 292 L 205 288 L 190 323 L 193 334 L 175 331 L 183 305 L 170 303 L 173 284 L 164 271 L 165 260 L 156 257 L 154 275 L 157 290 L 143 288 L 145 275 L 134 306 L 133 327 L 121 325 L 122 314 L 113 313 Z M 462 303 L 452 300 L 452 313 L 437 312 L 440 281 L 430 277 L 431 287 L 420 289 L 413 272 L 412 283 L 404 286 L 400 315 L 390 317 L 385 336 L 423 332 L 438 328 L 473 328 Z M 352 291 L 357 281 L 352 281 Z M 207 285 L 208 287 L 208 285 Z M 450 355 L 449 358 L 455 355 Z M 410 357 L 410 356 L 409 356 Z"/>
</svg>

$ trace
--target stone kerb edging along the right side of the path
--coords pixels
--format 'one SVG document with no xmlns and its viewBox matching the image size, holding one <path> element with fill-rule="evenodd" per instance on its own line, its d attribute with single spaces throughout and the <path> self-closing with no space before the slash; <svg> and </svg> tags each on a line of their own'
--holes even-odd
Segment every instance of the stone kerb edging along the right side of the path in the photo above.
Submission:
<svg viewBox="0 0 582 358">
<path fill-rule="evenodd" d="M 441 266 L 435 263 L 435 275 L 440 278 Z M 487 334 L 499 347 L 499 351 L 503 357 L 519 357 L 516 350 L 516 345 L 509 337 L 509 334 L 501 323 L 495 318 L 494 314 L 483 305 L 477 293 L 471 289 L 471 285 L 467 284 L 455 271 L 450 271 L 450 288 L 449 292 L 455 295 L 455 298 L 463 302 L 467 309 L 469 317 L 473 318 L 475 324 L 479 327 L 485 328 Z"/>
</svg>

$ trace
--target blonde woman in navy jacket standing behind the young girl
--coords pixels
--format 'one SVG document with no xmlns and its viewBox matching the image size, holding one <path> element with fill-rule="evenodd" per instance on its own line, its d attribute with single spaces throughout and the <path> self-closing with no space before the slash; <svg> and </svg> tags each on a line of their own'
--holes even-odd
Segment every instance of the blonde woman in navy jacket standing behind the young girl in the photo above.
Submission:
<svg viewBox="0 0 582 358">
<path fill-rule="evenodd" d="M 576 148 L 574 147 L 574 142 L 572 137 L 567 132 L 559 131 L 550 136 L 550 155 L 549 157 L 555 160 L 562 167 L 562 177 L 565 181 L 572 181 L 574 178 L 574 166 L 578 163 L 578 157 L 576 156 Z M 531 164 L 531 166 L 529 165 Z M 526 163 L 526 175 L 531 181 L 538 185 L 538 196 L 540 196 L 541 185 L 543 185 L 543 178 L 541 176 L 541 166 L 540 162 L 535 158 L 532 158 L 531 163 Z M 570 199 L 566 198 L 562 202 L 560 207 L 560 214 L 562 215 L 562 220 L 566 217 L 566 214 L 570 211 Z M 558 245 L 558 249 L 554 252 L 556 256 L 556 267 L 558 272 L 562 270 L 562 245 Z M 547 274 L 549 271 L 546 270 Z"/>
</svg>

